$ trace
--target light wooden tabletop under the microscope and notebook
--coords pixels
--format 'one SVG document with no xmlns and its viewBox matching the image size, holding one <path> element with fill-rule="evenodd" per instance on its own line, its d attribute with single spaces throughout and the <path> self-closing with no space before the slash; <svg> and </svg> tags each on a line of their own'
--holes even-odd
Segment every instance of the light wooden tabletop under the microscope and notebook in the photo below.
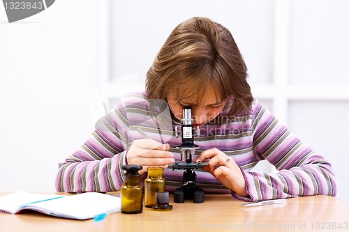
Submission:
<svg viewBox="0 0 349 232">
<path fill-rule="evenodd" d="M 1 193 L 3 196 L 8 193 Z M 204 203 L 173 203 L 170 211 L 108 215 L 101 222 L 26 212 L 0 214 L 1 232 L 55 231 L 349 231 L 349 208 L 332 196 L 302 196 L 269 206 L 242 206 L 230 194 L 206 194 Z"/>
</svg>

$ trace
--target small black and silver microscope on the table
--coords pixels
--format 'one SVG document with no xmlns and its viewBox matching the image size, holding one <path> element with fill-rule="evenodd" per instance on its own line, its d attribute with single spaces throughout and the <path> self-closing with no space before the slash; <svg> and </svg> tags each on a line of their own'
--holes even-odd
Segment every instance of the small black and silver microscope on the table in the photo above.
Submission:
<svg viewBox="0 0 349 232">
<path fill-rule="evenodd" d="M 202 203 L 205 199 L 205 192 L 196 185 L 196 173 L 193 169 L 202 170 L 204 163 L 192 162 L 192 155 L 198 149 L 198 145 L 194 144 L 194 128 L 193 119 L 191 118 L 191 107 L 183 108 L 183 119 L 181 123 L 181 131 L 175 127 L 175 135 L 181 136 L 181 145 L 177 148 L 181 151 L 181 162 L 172 164 L 172 170 L 184 169 L 183 182 L 181 187 L 173 192 L 174 203 L 184 203 L 184 199 L 193 199 L 194 203 Z M 200 137 L 200 128 L 197 127 L 196 134 Z"/>
</svg>

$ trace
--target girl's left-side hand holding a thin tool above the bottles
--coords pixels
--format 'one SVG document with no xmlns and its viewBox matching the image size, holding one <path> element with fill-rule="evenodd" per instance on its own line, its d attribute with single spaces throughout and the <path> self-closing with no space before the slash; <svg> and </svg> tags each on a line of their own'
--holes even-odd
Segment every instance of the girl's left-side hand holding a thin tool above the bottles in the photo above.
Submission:
<svg viewBox="0 0 349 232">
<path fill-rule="evenodd" d="M 128 150 L 126 160 L 128 164 L 139 164 L 143 167 L 138 171 L 140 174 L 147 171 L 147 167 L 168 167 L 174 164 L 173 153 L 169 152 L 170 145 L 161 144 L 151 139 L 140 139 L 133 141 Z"/>
</svg>

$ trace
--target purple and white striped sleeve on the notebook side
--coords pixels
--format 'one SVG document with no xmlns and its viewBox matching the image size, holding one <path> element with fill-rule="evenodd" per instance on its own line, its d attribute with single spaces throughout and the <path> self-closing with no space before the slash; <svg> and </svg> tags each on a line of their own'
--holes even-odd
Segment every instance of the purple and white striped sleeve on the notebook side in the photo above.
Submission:
<svg viewBox="0 0 349 232">
<path fill-rule="evenodd" d="M 122 104 L 120 102 L 119 104 Z M 124 106 L 114 107 L 57 173 L 57 192 L 110 192 L 123 184 L 121 166 L 128 148 Z"/>
</svg>

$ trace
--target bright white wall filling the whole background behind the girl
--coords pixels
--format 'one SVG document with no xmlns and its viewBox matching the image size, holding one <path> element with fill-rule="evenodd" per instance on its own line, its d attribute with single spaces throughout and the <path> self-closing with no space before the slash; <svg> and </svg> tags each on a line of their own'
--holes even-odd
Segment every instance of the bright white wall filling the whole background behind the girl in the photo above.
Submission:
<svg viewBox="0 0 349 232">
<path fill-rule="evenodd" d="M 174 26 L 205 16 L 232 32 L 255 97 L 334 164 L 349 206 L 348 8 L 346 0 L 60 0 L 8 24 L 0 7 L 0 191 L 54 191 L 58 163 L 94 129 L 102 102 L 110 109 L 119 98 L 120 77 L 136 73 L 144 85 Z"/>
</svg>

